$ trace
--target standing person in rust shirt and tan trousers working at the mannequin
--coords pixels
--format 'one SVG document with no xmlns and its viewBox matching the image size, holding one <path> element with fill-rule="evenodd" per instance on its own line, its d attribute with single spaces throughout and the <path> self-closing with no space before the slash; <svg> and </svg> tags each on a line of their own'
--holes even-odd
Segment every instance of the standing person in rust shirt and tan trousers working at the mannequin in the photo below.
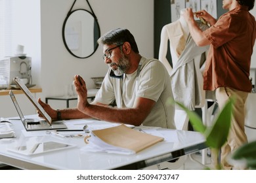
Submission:
<svg viewBox="0 0 256 183">
<path fill-rule="evenodd" d="M 255 18 L 249 10 L 254 7 L 254 2 L 223 0 L 223 8 L 228 12 L 219 20 L 215 20 L 205 10 L 196 12 L 197 17 L 202 17 L 211 25 L 205 31 L 197 26 L 191 8 L 187 8 L 183 14 L 196 44 L 210 44 L 203 73 L 203 89 L 215 90 L 220 108 L 224 107 L 230 97 L 236 97 L 228 141 L 221 149 L 221 165 L 224 169 L 240 169 L 230 165 L 227 156 L 247 142 L 244 129 L 245 101 L 252 89 L 249 69 L 256 37 Z M 212 153 L 212 156 L 216 155 Z"/>
</svg>

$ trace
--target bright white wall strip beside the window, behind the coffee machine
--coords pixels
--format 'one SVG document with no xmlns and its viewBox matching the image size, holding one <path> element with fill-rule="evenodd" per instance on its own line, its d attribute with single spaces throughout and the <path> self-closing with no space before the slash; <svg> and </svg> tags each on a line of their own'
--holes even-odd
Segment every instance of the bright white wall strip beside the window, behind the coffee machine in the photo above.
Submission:
<svg viewBox="0 0 256 183">
<path fill-rule="evenodd" d="M 12 53 L 15 54 L 17 44 L 25 46 L 24 53 L 32 57 L 33 83 L 38 84 L 38 73 L 41 68 L 40 1 L 12 0 L 12 3 L 14 5 Z"/>
</svg>

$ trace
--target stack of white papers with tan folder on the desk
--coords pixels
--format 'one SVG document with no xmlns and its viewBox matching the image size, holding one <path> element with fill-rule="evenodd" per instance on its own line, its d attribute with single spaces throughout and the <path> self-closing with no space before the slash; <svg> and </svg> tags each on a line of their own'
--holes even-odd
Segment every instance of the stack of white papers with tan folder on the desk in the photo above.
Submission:
<svg viewBox="0 0 256 183">
<path fill-rule="evenodd" d="M 108 152 L 116 154 L 136 154 L 158 142 L 163 137 L 142 133 L 126 125 L 91 131 L 88 144 L 83 148 L 90 152 Z"/>
</svg>

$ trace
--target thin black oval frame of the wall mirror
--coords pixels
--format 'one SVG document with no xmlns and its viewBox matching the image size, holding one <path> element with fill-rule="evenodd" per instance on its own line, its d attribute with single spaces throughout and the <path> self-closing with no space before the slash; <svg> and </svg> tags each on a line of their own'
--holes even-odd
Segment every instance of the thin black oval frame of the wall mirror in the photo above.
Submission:
<svg viewBox="0 0 256 183">
<path fill-rule="evenodd" d="M 97 48 L 98 48 L 98 43 L 96 43 L 96 47 L 94 48 L 93 52 L 91 54 L 89 54 L 89 56 L 85 56 L 85 57 L 81 57 L 81 56 L 77 56 L 75 55 L 72 50 L 70 50 L 70 48 L 68 48 L 68 44 L 66 43 L 66 39 L 65 39 L 65 27 L 66 27 L 66 22 L 68 21 L 68 18 L 70 18 L 70 16 L 76 12 L 77 10 L 83 10 L 85 12 L 88 12 L 91 16 L 93 16 L 95 22 L 96 22 L 96 25 L 98 26 L 98 38 L 100 38 L 100 25 L 98 24 L 98 20 L 96 18 L 96 16 L 94 14 L 92 14 L 91 12 L 89 12 L 88 10 L 85 10 L 85 9 L 76 9 L 76 10 L 73 10 L 71 12 L 68 13 L 68 15 L 66 16 L 65 20 L 64 20 L 64 23 L 62 25 L 62 39 L 63 39 L 63 42 L 64 42 L 64 45 L 66 47 L 66 49 L 68 50 L 68 52 L 70 52 L 70 54 L 72 54 L 72 56 L 76 57 L 76 58 L 89 58 L 90 56 L 92 56 Z"/>
</svg>

